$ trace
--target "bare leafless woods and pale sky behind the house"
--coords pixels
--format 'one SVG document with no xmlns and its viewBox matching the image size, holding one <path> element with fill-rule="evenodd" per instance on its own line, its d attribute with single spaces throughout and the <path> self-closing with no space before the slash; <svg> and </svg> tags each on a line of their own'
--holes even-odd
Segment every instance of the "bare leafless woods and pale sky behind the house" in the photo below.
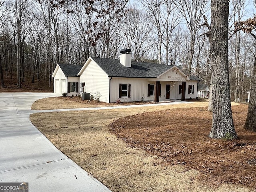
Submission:
<svg viewBox="0 0 256 192">
<path fill-rule="evenodd" d="M 234 23 L 254 15 L 246 0 L 229 2 L 230 96 L 250 90 L 256 40 Z M 177 65 L 210 84 L 210 45 L 203 16 L 208 0 L 0 0 L 0 72 L 17 86 L 48 80 L 58 63 L 83 65 L 89 56 L 119 58 L 131 48 L 135 61 Z"/>
</svg>

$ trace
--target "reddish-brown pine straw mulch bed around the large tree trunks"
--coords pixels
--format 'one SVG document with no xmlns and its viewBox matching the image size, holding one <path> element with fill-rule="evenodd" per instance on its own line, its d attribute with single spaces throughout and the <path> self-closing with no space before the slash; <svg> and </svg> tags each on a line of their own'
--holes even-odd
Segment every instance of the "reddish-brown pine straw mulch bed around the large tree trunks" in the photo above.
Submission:
<svg viewBox="0 0 256 192">
<path fill-rule="evenodd" d="M 206 184 L 256 188 L 256 133 L 243 129 L 248 106 L 232 106 L 238 140 L 208 138 L 207 108 L 171 109 L 120 118 L 110 130 L 127 142 L 160 156 L 167 164 L 196 169 Z M 196 112 L 195 112 L 196 111 Z"/>
</svg>

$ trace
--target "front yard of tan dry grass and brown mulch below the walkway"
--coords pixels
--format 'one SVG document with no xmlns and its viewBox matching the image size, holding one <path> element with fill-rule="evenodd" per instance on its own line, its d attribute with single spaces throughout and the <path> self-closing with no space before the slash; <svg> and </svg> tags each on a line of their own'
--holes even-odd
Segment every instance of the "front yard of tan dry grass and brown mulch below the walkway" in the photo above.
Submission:
<svg viewBox="0 0 256 192">
<path fill-rule="evenodd" d="M 64 106 L 66 101 L 58 102 Z M 51 102 L 42 104 L 46 107 Z M 255 165 L 246 164 L 249 156 L 256 158 L 255 134 L 251 137 L 246 132 L 243 136 L 247 106 L 239 106 L 233 114 L 238 136 L 243 138 L 235 142 L 240 146 L 232 146 L 234 142 L 207 138 L 211 124 L 207 105 L 196 102 L 37 113 L 31 114 L 30 119 L 59 150 L 114 192 L 254 191 L 251 183 L 255 172 L 244 175 L 242 179 L 248 182 L 240 185 L 231 184 L 223 174 L 227 172 L 229 176 L 231 170 L 233 178 L 240 178 L 237 174 L 243 170 L 236 170 L 239 164 L 255 170 Z M 234 162 L 230 154 L 240 156 Z M 231 168 L 227 162 L 233 164 Z M 222 174 L 214 172 L 210 163 Z"/>
</svg>

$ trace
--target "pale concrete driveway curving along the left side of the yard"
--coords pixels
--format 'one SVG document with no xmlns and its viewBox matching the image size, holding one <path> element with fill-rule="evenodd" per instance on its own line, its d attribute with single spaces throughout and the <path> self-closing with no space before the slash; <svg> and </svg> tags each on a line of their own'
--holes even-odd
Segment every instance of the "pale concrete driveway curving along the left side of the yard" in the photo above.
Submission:
<svg viewBox="0 0 256 192">
<path fill-rule="evenodd" d="M 34 101 L 54 93 L 0 93 L 0 182 L 28 182 L 30 192 L 108 192 L 60 152 L 29 120 Z"/>
</svg>

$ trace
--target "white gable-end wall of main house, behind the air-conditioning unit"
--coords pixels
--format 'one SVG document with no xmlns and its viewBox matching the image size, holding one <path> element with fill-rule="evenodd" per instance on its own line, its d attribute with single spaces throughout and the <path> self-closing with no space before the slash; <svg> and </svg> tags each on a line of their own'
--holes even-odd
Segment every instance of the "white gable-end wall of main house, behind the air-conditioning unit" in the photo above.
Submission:
<svg viewBox="0 0 256 192">
<path fill-rule="evenodd" d="M 108 75 L 94 62 L 91 60 L 86 66 L 82 74 L 80 75 L 80 82 L 85 83 L 84 90 L 87 93 L 94 95 L 97 92 L 100 93 L 100 101 L 109 102 L 109 78 Z"/>
</svg>

